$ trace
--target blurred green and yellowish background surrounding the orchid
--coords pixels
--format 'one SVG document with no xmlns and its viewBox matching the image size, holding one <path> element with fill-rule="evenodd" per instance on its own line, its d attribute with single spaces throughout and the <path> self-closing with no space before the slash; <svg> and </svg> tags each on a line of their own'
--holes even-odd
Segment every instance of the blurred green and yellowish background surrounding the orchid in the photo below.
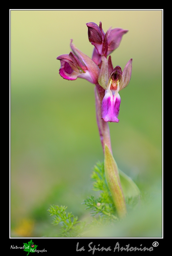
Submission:
<svg viewBox="0 0 172 256">
<path fill-rule="evenodd" d="M 90 175 L 103 161 L 94 85 L 63 79 L 56 57 L 71 51 L 70 39 L 91 57 L 86 23 L 100 21 L 105 32 L 129 30 L 111 54 L 113 66 L 123 70 L 133 58 L 130 84 L 120 91 L 120 122 L 109 123 L 113 155 L 154 202 L 142 225 L 129 216 L 130 225 L 109 234 L 161 236 L 162 11 L 11 10 L 12 237 L 56 236 L 50 204 L 89 219 L 81 203 L 94 193 Z"/>
</svg>

